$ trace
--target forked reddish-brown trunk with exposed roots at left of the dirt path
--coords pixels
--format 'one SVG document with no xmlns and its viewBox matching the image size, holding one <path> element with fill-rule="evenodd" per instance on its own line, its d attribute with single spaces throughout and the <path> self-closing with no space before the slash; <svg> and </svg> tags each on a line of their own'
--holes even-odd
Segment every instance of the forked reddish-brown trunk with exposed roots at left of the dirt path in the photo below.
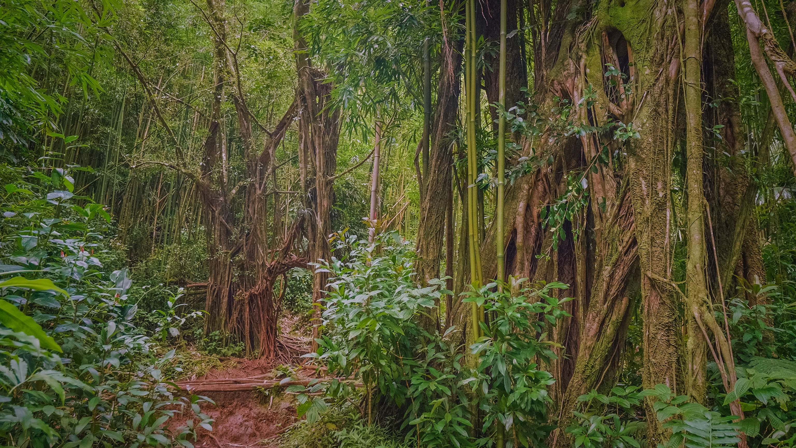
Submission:
<svg viewBox="0 0 796 448">
<path fill-rule="evenodd" d="M 263 151 L 254 147 L 252 113 L 248 110 L 240 84 L 236 55 L 229 50 L 223 0 L 207 0 L 204 16 L 213 29 L 214 91 L 209 136 L 205 140 L 201 175 L 196 179 L 208 227 L 209 284 L 205 309 L 205 332 L 220 332 L 244 342 L 247 355 L 273 357 L 277 350 L 279 304 L 274 301 L 277 277 L 306 260 L 295 255 L 298 226 L 277 240 L 268 235 L 268 179 L 272 179 L 274 150 L 283 139 L 297 112 L 296 104 L 269 132 Z M 228 96 L 225 84 L 236 80 L 232 100 L 236 108 L 238 132 L 243 145 L 246 178 L 230 183 L 227 137 L 220 129 L 221 104 Z M 271 176 L 269 176 L 271 174 Z M 273 191 L 276 186 L 271 186 Z M 243 193 L 242 218 L 237 218 L 233 202 Z M 240 256 L 242 255 L 242 257 Z"/>
</svg>

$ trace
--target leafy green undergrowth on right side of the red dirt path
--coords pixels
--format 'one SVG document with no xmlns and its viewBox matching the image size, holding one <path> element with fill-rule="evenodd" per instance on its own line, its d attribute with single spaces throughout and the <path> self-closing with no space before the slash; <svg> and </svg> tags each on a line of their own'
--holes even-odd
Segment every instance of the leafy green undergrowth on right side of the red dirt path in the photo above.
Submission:
<svg viewBox="0 0 796 448">
<path fill-rule="evenodd" d="M 566 315 L 550 293 L 566 285 L 519 291 L 505 285 L 506 292 L 496 292 L 490 284 L 466 293 L 463 301 L 484 306 L 488 318 L 482 336 L 464 348 L 453 342 L 457 328 L 440 334 L 419 323 L 420 314 L 451 292 L 443 281 L 425 288 L 414 283 L 413 253 L 400 236 L 382 234 L 369 243 L 338 234 L 336 241 L 341 259 L 318 265 L 332 274 L 331 292 L 318 351 L 307 357 L 345 379 L 288 388 L 299 394 L 298 413 L 306 419 L 281 446 L 349 446 L 351 439 L 384 447 L 545 446 L 568 438 L 576 447 L 638 448 L 650 446 L 645 401 L 672 432 L 663 444 L 669 448 L 734 446 L 741 431 L 748 446 L 792 446 L 796 440 L 796 363 L 787 336 L 794 320 L 789 296 L 777 285 L 747 285 L 732 300 L 739 379 L 731 394 L 722 393 L 712 363 L 706 403 L 663 384 L 620 383 L 581 395 L 572 415 L 556 418 L 547 396 L 556 379 L 544 370 L 556 355 L 545 339 Z M 759 305 L 750 307 L 748 295 Z M 735 399 L 743 419 L 728 407 Z"/>
</svg>

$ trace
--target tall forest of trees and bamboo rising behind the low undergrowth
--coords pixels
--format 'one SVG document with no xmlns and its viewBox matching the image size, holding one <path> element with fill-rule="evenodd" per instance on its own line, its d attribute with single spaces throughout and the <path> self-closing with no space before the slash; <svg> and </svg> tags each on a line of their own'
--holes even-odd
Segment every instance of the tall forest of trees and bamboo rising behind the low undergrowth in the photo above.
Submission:
<svg viewBox="0 0 796 448">
<path fill-rule="evenodd" d="M 419 325 L 461 353 L 495 319 L 462 293 L 568 285 L 540 332 L 550 422 L 618 384 L 707 405 L 796 354 L 734 329 L 796 291 L 796 2 L 0 5 L 6 163 L 71 173 L 135 275 L 247 356 L 291 350 L 296 268 L 318 349 L 346 230 L 412 242 L 414 283 L 447 290 Z M 760 341 L 792 336 L 776 316 L 749 318 Z M 649 446 L 672 434 L 655 406 Z"/>
</svg>

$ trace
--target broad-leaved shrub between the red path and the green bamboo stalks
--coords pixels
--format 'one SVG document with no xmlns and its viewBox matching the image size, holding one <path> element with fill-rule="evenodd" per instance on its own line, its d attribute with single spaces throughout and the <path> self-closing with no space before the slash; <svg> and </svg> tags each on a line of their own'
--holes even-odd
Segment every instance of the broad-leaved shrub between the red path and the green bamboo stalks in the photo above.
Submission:
<svg viewBox="0 0 796 448">
<path fill-rule="evenodd" d="M 408 400 L 412 367 L 419 367 L 414 350 L 421 338 L 429 337 L 414 318 L 434 305 L 442 282 L 416 287 L 409 243 L 396 233 L 380 234 L 373 244 L 338 234 L 335 250 L 347 251 L 348 257 L 318 265 L 333 278 L 322 313 L 323 336 L 312 355 L 338 376 L 361 379 L 369 399 L 376 391 L 402 406 Z M 433 359 L 435 346 L 429 350 Z M 424 387 L 418 389 L 414 393 L 422 394 Z M 353 391 L 333 382 L 329 393 L 347 396 Z"/>
</svg>

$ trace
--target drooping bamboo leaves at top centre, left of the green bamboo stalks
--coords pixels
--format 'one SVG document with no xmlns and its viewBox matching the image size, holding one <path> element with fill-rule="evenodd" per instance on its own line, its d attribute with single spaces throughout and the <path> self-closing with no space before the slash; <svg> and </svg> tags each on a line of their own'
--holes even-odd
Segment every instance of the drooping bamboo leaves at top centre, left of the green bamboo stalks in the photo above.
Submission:
<svg viewBox="0 0 796 448">
<path fill-rule="evenodd" d="M 450 19 L 449 19 L 450 20 Z M 425 38 L 439 36 L 439 8 L 427 2 L 315 3 L 301 29 L 312 51 L 330 67 L 335 106 L 343 108 L 349 131 L 365 134 L 368 117 L 395 116 L 404 96 L 422 92 L 419 57 Z M 422 105 L 420 96 L 416 104 Z"/>
</svg>

